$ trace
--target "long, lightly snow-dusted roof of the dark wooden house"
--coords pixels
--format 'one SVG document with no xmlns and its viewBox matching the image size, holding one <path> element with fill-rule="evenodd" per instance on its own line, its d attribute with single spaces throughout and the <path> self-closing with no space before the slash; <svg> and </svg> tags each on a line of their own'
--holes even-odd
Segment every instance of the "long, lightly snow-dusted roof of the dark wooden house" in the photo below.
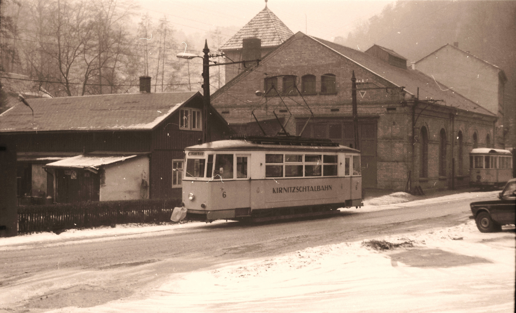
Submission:
<svg viewBox="0 0 516 313">
<path fill-rule="evenodd" d="M 0 132 L 151 130 L 196 91 L 27 99 L 0 114 Z"/>
</svg>

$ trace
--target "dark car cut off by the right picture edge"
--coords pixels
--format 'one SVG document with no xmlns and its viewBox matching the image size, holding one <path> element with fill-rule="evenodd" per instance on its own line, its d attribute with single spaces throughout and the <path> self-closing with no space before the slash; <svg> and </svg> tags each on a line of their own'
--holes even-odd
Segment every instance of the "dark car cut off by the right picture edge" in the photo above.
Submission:
<svg viewBox="0 0 516 313">
<path fill-rule="evenodd" d="M 501 231 L 502 225 L 514 224 L 516 211 L 516 178 L 507 182 L 499 200 L 479 201 L 470 204 L 471 212 L 480 232 Z"/>
</svg>

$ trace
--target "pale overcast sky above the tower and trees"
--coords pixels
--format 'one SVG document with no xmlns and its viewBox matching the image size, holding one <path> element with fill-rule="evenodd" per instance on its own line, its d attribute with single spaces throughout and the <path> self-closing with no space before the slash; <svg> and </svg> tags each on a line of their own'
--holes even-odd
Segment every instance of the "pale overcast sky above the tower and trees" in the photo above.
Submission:
<svg viewBox="0 0 516 313">
<path fill-rule="evenodd" d="M 166 15 L 174 28 L 186 34 L 200 33 L 219 27 L 222 34 L 232 36 L 264 7 L 264 0 L 138 0 L 140 14 L 148 12 L 156 21 Z M 343 0 L 268 0 L 268 8 L 296 33 L 333 41 L 347 36 L 361 22 L 380 13 L 394 1 Z"/>
</svg>

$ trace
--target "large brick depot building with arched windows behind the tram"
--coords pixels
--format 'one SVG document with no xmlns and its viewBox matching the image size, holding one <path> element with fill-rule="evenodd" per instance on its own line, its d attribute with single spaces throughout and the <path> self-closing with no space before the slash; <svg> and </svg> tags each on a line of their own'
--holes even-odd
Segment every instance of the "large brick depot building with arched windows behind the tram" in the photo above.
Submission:
<svg viewBox="0 0 516 313">
<path fill-rule="evenodd" d="M 425 190 L 469 183 L 468 153 L 494 147 L 496 115 L 377 45 L 361 52 L 299 32 L 217 90 L 212 105 L 240 134 L 262 134 L 251 112 L 268 135 L 276 134 L 276 113 L 288 120 L 292 135 L 350 146 L 353 71 L 364 187 Z M 271 85 L 281 97 L 273 90 L 256 96 Z"/>
</svg>

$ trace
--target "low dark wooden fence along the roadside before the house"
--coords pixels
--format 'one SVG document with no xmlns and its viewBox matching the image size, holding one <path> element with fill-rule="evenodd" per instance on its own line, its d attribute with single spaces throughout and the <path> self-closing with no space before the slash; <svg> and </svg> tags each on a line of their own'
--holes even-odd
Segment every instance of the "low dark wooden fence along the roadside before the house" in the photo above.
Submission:
<svg viewBox="0 0 516 313">
<path fill-rule="evenodd" d="M 66 229 L 126 223 L 170 222 L 181 199 L 76 202 L 18 207 L 18 232 L 61 232 Z"/>
</svg>

